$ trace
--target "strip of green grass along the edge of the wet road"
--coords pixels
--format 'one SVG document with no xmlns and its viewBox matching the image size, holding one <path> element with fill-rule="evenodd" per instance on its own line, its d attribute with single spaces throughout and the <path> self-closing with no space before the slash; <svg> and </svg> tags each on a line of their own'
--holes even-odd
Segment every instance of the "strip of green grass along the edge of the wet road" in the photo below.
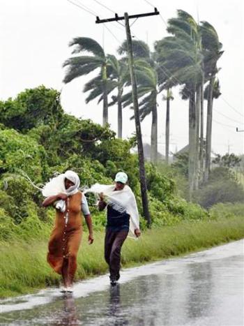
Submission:
<svg viewBox="0 0 244 326">
<path fill-rule="evenodd" d="M 103 232 L 96 232 L 95 242 L 89 246 L 86 234 L 79 251 L 77 280 L 104 274 Z M 244 237 L 244 218 L 218 218 L 215 221 L 181 223 L 147 230 L 139 241 L 128 239 L 123 246 L 123 267 L 169 258 Z M 29 242 L 1 242 L 0 297 L 33 292 L 45 286 L 59 284 L 59 275 L 46 262 L 47 239 Z"/>
</svg>

